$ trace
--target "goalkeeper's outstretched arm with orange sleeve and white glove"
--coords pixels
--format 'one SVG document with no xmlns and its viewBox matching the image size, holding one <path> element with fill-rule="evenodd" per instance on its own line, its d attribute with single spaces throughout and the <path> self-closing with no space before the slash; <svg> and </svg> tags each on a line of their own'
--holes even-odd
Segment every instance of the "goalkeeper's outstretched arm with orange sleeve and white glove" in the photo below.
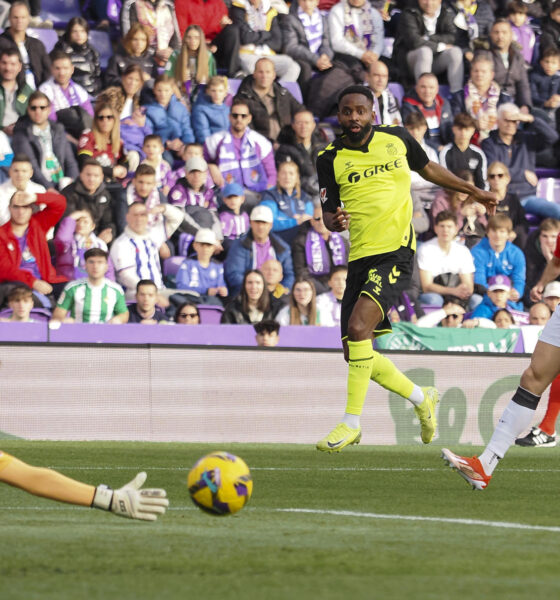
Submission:
<svg viewBox="0 0 560 600">
<path fill-rule="evenodd" d="M 162 489 L 141 489 L 146 473 L 118 490 L 106 485 L 88 485 L 54 471 L 33 467 L 0 450 L 0 481 L 21 488 L 35 496 L 79 506 L 111 511 L 119 517 L 155 521 L 169 506 Z"/>
</svg>

